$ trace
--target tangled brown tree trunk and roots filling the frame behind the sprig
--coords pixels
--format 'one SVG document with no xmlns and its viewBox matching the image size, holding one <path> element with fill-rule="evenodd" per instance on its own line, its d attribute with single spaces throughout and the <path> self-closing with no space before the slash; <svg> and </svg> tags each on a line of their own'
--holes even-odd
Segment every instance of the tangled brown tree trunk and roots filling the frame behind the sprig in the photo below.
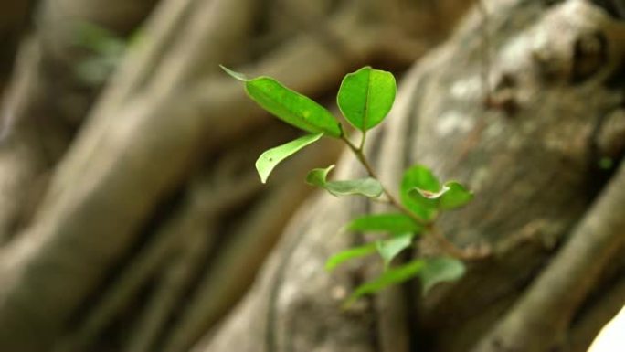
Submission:
<svg viewBox="0 0 625 352">
<path fill-rule="evenodd" d="M 0 75 L 0 350 L 584 351 L 625 301 L 619 3 L 482 3 L 449 38 L 471 2 L 43 0 L 30 27 L 0 16 L 25 37 Z M 102 59 L 75 42 L 84 22 L 133 38 L 95 82 L 77 71 Z M 415 163 L 468 184 L 476 200 L 441 229 L 493 255 L 426 296 L 408 283 L 342 310 L 380 265 L 323 263 L 366 240 L 337 235 L 348 219 L 384 206 L 308 197 L 334 143 L 263 187 L 254 158 L 296 133 L 218 64 L 324 103 L 359 66 L 412 65 L 367 153 L 391 188 Z M 344 155 L 336 174 L 365 172 Z"/>
</svg>

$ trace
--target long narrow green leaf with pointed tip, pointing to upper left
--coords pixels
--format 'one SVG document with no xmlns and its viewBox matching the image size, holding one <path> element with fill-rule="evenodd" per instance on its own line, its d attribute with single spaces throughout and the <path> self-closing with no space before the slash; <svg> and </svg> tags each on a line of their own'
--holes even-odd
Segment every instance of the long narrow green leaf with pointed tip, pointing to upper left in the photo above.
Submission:
<svg viewBox="0 0 625 352">
<path fill-rule="evenodd" d="M 270 77 L 249 80 L 245 75 L 221 67 L 230 76 L 245 82 L 249 97 L 264 110 L 309 133 L 325 133 L 341 138 L 343 131 L 333 114 L 310 98 L 284 87 Z"/>
</svg>

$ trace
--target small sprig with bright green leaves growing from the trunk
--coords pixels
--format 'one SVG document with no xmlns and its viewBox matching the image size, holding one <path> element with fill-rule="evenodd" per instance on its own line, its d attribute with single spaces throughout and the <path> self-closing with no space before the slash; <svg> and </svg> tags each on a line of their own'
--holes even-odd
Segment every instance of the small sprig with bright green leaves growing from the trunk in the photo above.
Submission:
<svg viewBox="0 0 625 352">
<path fill-rule="evenodd" d="M 313 169 L 306 177 L 306 182 L 337 197 L 370 197 L 395 208 L 390 213 L 364 215 L 345 227 L 353 232 L 386 233 L 386 237 L 336 253 L 326 262 L 326 269 L 332 271 L 345 261 L 378 253 L 384 263 L 384 271 L 376 279 L 356 287 L 346 304 L 351 304 L 365 294 L 379 292 L 391 284 L 403 283 L 415 277 L 421 280 L 425 294 L 437 283 L 458 280 L 462 276 L 465 272 L 461 261 L 464 252 L 445 240 L 436 229 L 435 222 L 442 211 L 461 208 L 470 202 L 472 193 L 457 182 L 441 184 L 428 167 L 414 165 L 404 172 L 397 199 L 380 183 L 364 154 L 367 132 L 387 117 L 395 101 L 397 86 L 391 73 L 365 67 L 344 77 L 337 102 L 345 120 L 361 133 L 360 143 L 356 145 L 334 115 L 315 101 L 291 91 L 270 77 L 249 79 L 223 66 L 222 69 L 242 81 L 249 97 L 263 109 L 307 133 L 260 155 L 256 168 L 263 183 L 282 160 L 322 137 L 336 138 L 342 140 L 354 153 L 365 167 L 368 177 L 329 181 L 328 174 L 334 168 L 334 165 L 330 165 Z M 417 240 L 425 236 L 430 236 L 440 244 L 440 256 L 394 264 L 400 252 L 414 246 Z"/>
</svg>

